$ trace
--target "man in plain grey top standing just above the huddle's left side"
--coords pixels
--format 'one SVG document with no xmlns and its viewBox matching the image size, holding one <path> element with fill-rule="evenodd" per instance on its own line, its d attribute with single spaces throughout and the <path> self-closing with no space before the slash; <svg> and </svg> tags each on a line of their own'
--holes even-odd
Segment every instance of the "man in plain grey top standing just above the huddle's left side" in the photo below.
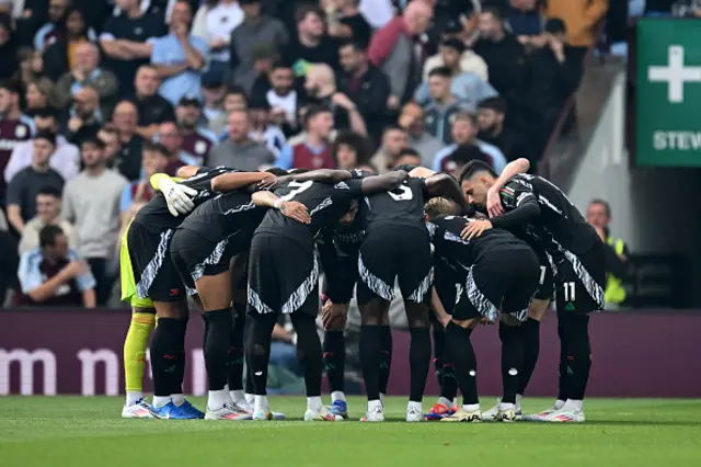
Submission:
<svg viewBox="0 0 701 467">
<path fill-rule="evenodd" d="M 246 111 L 233 111 L 229 114 L 227 138 L 209 152 L 211 167 L 227 166 L 254 172 L 272 166 L 275 156 L 260 143 L 249 136 L 251 122 Z"/>
</svg>

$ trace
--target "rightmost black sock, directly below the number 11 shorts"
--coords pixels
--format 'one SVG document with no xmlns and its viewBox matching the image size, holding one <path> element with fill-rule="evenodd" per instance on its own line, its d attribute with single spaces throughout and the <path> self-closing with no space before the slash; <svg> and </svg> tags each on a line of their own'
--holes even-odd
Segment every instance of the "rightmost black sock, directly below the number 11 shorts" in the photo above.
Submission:
<svg viewBox="0 0 701 467">
<path fill-rule="evenodd" d="M 567 398 L 583 400 L 591 369 L 589 317 L 570 315 L 565 319 L 567 334 Z M 566 400 L 566 399 L 563 399 Z"/>
</svg>

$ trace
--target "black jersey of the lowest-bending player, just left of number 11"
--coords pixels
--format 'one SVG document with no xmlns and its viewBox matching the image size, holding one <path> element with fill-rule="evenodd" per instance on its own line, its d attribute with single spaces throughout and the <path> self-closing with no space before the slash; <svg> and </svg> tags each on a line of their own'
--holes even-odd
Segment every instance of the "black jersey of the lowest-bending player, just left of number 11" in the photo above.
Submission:
<svg viewBox="0 0 701 467">
<path fill-rule="evenodd" d="M 472 240 L 463 240 L 460 234 L 470 219 L 460 216 L 438 217 L 426 224 L 430 234 L 430 242 L 434 246 L 434 259 L 443 259 L 450 264 L 456 275 L 467 277 L 469 269 L 480 260 L 483 260 L 495 248 L 509 248 L 512 246 L 526 247 L 527 244 L 504 229 L 489 229 L 480 237 Z"/>
</svg>

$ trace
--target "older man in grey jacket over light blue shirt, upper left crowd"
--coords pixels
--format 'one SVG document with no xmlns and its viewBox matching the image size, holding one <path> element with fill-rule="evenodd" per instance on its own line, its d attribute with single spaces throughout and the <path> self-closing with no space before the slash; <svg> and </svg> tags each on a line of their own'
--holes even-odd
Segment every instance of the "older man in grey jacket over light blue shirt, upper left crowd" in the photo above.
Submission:
<svg viewBox="0 0 701 467">
<path fill-rule="evenodd" d="M 56 84 L 56 96 L 60 107 L 66 107 L 76 98 L 78 91 L 89 86 L 97 91 L 100 117 L 107 117 L 112 113 L 119 83 L 117 77 L 110 70 L 99 67 L 100 50 L 94 44 L 82 43 L 76 46 L 73 66 Z"/>
</svg>

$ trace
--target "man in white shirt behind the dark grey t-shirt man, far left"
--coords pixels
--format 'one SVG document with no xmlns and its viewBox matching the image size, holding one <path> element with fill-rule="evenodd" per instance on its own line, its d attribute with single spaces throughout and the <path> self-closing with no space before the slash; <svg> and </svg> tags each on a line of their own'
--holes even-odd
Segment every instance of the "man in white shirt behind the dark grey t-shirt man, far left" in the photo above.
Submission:
<svg viewBox="0 0 701 467">
<path fill-rule="evenodd" d="M 34 113 L 34 126 L 37 132 L 58 133 L 58 111 L 42 109 Z M 22 141 L 12 150 L 10 161 L 4 169 L 4 180 L 10 181 L 23 169 L 32 164 L 34 159 L 34 140 Z M 56 137 L 56 150 L 49 160 L 49 167 L 61 175 L 64 180 L 70 180 L 78 174 L 80 155 L 78 147 L 71 145 L 64 136 Z M 39 186 L 41 187 L 41 186 Z"/>
</svg>

